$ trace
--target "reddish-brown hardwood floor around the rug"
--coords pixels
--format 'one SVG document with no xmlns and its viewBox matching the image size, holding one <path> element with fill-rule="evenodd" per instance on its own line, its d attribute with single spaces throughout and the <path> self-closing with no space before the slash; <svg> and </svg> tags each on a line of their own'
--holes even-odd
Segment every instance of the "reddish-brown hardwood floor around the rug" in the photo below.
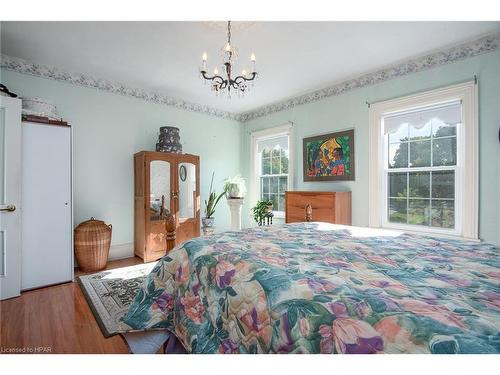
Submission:
<svg viewBox="0 0 500 375">
<path fill-rule="evenodd" d="M 142 263 L 110 261 L 107 269 Z M 75 270 L 75 277 L 84 274 Z M 24 348 L 24 349 L 23 349 Z M 121 336 L 104 338 L 77 282 L 23 292 L 0 302 L 0 354 L 128 353 Z"/>
</svg>

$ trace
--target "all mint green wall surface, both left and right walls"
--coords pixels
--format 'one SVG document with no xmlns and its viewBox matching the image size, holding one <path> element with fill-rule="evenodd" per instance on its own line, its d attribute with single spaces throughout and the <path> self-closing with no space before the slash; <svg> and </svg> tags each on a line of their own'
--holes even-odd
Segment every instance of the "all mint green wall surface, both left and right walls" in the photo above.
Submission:
<svg viewBox="0 0 500 375">
<path fill-rule="evenodd" d="M 24 96 L 53 101 L 73 126 L 75 225 L 95 216 L 113 224 L 113 244 L 133 241 L 132 155 L 153 150 L 162 125 L 181 129 L 184 152 L 201 157 L 202 198 L 210 174 L 217 188 L 230 175 L 249 177 L 250 134 L 272 126 L 294 123 L 295 189 L 351 190 L 353 224 L 368 224 L 368 108 L 374 102 L 479 78 L 480 236 L 500 244 L 500 51 L 411 74 L 344 95 L 297 106 L 243 125 L 194 112 L 157 105 L 91 88 L 0 71 L 0 80 Z M 355 129 L 356 181 L 303 182 L 302 138 L 342 129 Z M 244 226 L 253 225 L 243 210 Z M 221 202 L 218 230 L 229 228 L 229 210 Z"/>
</svg>

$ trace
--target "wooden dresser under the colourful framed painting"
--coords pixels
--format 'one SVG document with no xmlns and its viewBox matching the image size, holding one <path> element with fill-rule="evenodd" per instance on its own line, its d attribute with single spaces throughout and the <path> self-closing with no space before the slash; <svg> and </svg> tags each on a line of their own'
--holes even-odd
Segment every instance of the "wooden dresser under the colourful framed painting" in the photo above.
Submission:
<svg viewBox="0 0 500 375">
<path fill-rule="evenodd" d="M 303 221 L 351 225 L 351 192 L 285 192 L 285 222 Z"/>
</svg>

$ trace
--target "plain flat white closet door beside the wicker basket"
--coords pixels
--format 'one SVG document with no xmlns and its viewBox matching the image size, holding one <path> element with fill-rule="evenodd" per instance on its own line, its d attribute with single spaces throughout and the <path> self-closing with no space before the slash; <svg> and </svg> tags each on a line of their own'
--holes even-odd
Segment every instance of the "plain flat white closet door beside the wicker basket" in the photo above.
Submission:
<svg viewBox="0 0 500 375">
<path fill-rule="evenodd" d="M 71 129 L 23 123 L 22 289 L 73 278 Z"/>
</svg>

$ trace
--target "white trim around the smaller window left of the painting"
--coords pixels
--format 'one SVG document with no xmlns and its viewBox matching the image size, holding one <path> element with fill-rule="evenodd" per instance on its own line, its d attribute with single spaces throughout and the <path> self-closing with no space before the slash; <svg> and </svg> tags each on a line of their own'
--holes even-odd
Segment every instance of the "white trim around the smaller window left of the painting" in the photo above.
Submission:
<svg viewBox="0 0 500 375">
<path fill-rule="evenodd" d="M 294 153 L 294 139 L 293 139 L 293 123 L 288 122 L 286 124 L 275 126 L 272 128 L 258 130 L 252 132 L 251 134 L 251 147 L 250 147 L 250 204 L 253 206 L 257 200 L 259 200 L 259 181 L 258 181 L 258 170 L 259 165 L 256 163 L 256 150 L 257 141 L 262 139 L 267 139 L 270 137 L 280 137 L 288 136 L 288 188 L 287 190 L 293 190 L 294 186 L 294 171 L 295 171 L 295 153 Z M 274 217 L 284 218 L 284 211 L 275 211 Z"/>
</svg>

